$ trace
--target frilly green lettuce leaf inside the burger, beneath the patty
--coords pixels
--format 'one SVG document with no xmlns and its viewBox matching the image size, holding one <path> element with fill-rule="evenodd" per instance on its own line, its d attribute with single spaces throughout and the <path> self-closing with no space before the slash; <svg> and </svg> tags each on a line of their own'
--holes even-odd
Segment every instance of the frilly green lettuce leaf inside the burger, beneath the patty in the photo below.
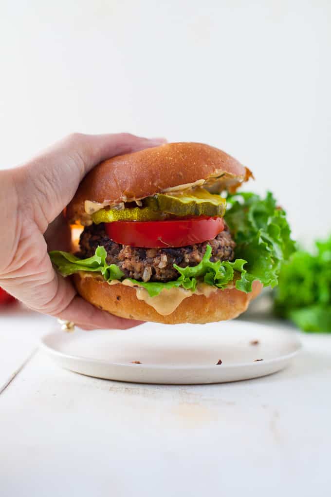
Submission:
<svg viewBox="0 0 331 497">
<path fill-rule="evenodd" d="M 182 287 L 194 292 L 199 282 L 224 289 L 234 278 L 236 288 L 246 293 L 252 290 L 256 280 L 264 286 L 275 286 L 282 260 L 294 250 L 285 212 L 276 207 L 271 193 L 265 199 L 254 193 L 230 195 L 227 204 L 225 220 L 237 244 L 233 262 L 212 262 L 211 247 L 207 245 L 196 266 L 183 268 L 174 264 L 179 273 L 177 280 L 144 283 L 132 279 L 134 285 L 145 288 L 151 297 L 163 288 Z M 88 259 L 57 250 L 50 252 L 52 262 L 64 276 L 76 271 L 98 271 L 106 281 L 121 280 L 124 273 L 115 264 L 107 265 L 106 255 L 103 247 L 98 247 Z"/>
</svg>

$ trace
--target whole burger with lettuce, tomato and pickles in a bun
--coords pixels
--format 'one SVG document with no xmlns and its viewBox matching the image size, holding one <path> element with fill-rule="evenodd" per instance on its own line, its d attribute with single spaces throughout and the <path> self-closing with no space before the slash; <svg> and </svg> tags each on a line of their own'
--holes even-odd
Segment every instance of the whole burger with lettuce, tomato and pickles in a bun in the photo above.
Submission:
<svg viewBox="0 0 331 497">
<path fill-rule="evenodd" d="M 221 150 L 169 143 L 91 170 L 66 208 L 72 253 L 50 252 L 88 302 L 165 324 L 228 320 L 275 286 L 294 249 L 273 195 L 237 189 L 252 172 Z"/>
</svg>

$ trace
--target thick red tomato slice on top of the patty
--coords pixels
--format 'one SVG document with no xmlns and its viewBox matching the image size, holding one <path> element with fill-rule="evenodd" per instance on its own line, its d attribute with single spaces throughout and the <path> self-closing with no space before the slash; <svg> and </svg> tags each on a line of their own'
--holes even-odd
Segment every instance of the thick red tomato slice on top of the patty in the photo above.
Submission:
<svg viewBox="0 0 331 497">
<path fill-rule="evenodd" d="M 186 247 L 212 240 L 224 229 L 222 218 L 199 216 L 169 221 L 115 221 L 105 223 L 111 240 L 131 247 Z"/>
</svg>

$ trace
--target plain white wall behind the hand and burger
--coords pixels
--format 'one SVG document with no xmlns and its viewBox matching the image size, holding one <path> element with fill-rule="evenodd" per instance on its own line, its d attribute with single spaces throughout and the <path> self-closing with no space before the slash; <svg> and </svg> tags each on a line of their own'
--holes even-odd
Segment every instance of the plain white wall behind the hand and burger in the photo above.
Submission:
<svg viewBox="0 0 331 497">
<path fill-rule="evenodd" d="M 331 231 L 330 1 L 0 3 L 0 167 L 72 131 L 201 141 Z"/>
</svg>

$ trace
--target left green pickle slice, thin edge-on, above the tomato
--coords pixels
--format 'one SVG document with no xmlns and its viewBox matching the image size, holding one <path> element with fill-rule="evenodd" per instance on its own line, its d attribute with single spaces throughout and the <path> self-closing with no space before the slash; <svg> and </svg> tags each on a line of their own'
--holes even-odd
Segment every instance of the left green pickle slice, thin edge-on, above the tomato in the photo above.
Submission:
<svg viewBox="0 0 331 497">
<path fill-rule="evenodd" d="M 162 212 L 151 207 L 133 207 L 122 210 L 101 209 L 92 215 L 94 224 L 112 223 L 113 221 L 158 221 L 164 219 Z"/>
</svg>

